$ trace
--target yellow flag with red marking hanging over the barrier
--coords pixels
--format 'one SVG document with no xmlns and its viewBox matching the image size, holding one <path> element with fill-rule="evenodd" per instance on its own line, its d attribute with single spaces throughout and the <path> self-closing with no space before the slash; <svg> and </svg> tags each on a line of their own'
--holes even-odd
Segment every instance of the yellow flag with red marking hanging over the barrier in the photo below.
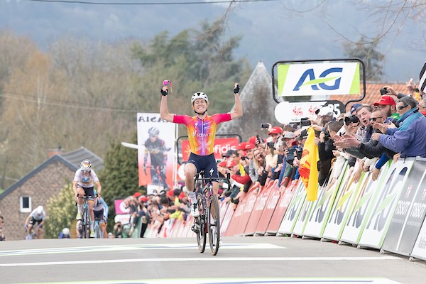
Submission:
<svg viewBox="0 0 426 284">
<path fill-rule="evenodd" d="M 307 130 L 307 138 L 300 159 L 299 174 L 307 190 L 306 200 L 315 201 L 318 197 L 318 146 L 314 143 L 315 131 L 312 126 Z"/>
</svg>

